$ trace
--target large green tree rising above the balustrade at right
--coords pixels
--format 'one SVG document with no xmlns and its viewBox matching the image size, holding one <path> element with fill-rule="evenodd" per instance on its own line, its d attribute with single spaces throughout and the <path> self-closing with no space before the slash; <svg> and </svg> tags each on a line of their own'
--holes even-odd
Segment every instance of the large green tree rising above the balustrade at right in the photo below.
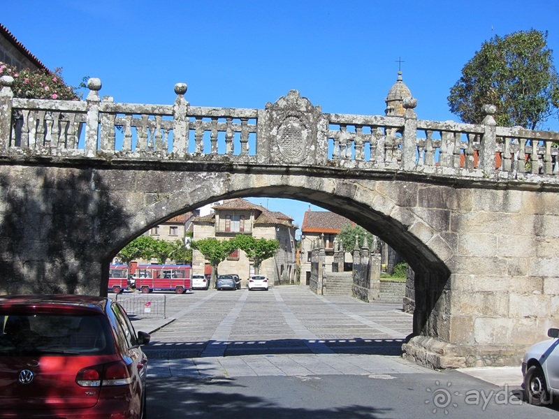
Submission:
<svg viewBox="0 0 559 419">
<path fill-rule="evenodd" d="M 493 36 L 462 69 L 449 107 L 468 124 L 481 124 L 483 105 L 497 106 L 501 126 L 535 129 L 559 108 L 559 78 L 547 32 L 530 29 Z"/>
</svg>

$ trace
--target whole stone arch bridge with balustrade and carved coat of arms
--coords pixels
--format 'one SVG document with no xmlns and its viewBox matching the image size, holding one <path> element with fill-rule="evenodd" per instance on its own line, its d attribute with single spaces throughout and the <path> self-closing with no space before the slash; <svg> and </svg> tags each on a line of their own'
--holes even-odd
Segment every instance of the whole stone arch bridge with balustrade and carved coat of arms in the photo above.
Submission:
<svg viewBox="0 0 559 419">
<path fill-rule="evenodd" d="M 414 270 L 405 354 L 518 365 L 558 326 L 558 133 L 323 113 L 297 91 L 263 109 L 0 91 L 0 293 L 105 295 L 108 263 L 171 216 L 222 198 L 293 198 L 347 216 Z"/>
</svg>

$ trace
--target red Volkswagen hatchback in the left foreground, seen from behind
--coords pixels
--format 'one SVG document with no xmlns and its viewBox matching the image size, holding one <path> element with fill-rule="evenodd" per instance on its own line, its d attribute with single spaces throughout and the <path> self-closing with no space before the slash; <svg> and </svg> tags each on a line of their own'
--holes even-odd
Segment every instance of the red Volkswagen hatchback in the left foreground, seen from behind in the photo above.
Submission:
<svg viewBox="0 0 559 419">
<path fill-rule="evenodd" d="M 150 341 L 112 300 L 0 296 L 0 418 L 145 418 Z"/>
</svg>

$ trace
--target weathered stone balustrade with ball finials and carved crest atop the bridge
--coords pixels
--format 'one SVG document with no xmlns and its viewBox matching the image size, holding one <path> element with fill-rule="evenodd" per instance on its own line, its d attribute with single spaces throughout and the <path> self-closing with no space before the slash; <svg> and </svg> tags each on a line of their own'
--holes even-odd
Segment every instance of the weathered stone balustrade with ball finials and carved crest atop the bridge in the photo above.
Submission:
<svg viewBox="0 0 559 419">
<path fill-rule="evenodd" d="M 90 79 L 85 101 L 14 98 L 0 78 L 3 158 L 224 161 L 264 165 L 389 170 L 479 179 L 556 183 L 559 133 L 418 120 L 407 98 L 403 117 L 322 113 L 297 91 L 265 109 L 205 108 L 175 85 L 173 105 L 115 103 Z"/>
</svg>

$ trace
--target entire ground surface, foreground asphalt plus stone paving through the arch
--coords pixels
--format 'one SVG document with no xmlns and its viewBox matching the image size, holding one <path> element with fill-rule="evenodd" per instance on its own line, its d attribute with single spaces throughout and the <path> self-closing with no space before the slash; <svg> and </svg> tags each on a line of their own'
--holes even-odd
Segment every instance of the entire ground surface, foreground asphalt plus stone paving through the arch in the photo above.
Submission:
<svg viewBox="0 0 559 419">
<path fill-rule="evenodd" d="M 520 383 L 403 360 L 412 316 L 398 304 L 300 286 L 165 298 L 170 323 L 146 347 L 150 418 L 557 417 L 523 402 Z M 161 321 L 132 318 L 140 330 Z"/>
</svg>

